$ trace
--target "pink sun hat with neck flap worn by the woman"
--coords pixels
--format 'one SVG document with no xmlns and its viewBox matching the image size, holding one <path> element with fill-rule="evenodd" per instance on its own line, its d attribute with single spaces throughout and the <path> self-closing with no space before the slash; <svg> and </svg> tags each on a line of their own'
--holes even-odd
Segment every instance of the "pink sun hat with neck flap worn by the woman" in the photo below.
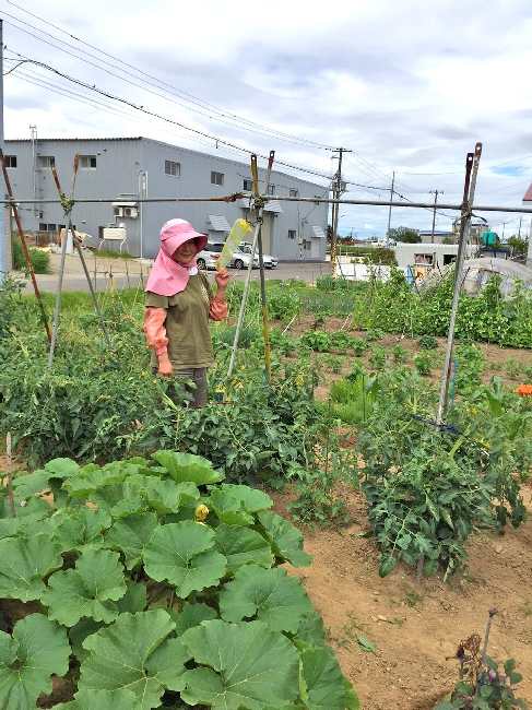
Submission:
<svg viewBox="0 0 532 710">
<path fill-rule="evenodd" d="M 174 296 L 185 291 L 190 276 L 198 273 L 194 260 L 186 267 L 172 259 L 172 255 L 189 239 L 196 242 L 196 253 L 202 251 L 208 238 L 204 234 L 196 232 L 192 225 L 185 220 L 168 220 L 161 229 L 161 249 L 147 279 L 145 291 L 159 296 Z"/>
</svg>

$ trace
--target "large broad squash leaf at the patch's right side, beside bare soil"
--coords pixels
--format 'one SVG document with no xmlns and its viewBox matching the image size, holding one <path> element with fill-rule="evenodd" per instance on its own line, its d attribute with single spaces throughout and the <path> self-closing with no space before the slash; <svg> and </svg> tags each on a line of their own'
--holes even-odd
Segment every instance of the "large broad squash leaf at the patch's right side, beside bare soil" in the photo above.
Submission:
<svg viewBox="0 0 532 710">
<path fill-rule="evenodd" d="M 295 634 L 312 604 L 295 577 L 282 567 L 264 569 L 246 565 L 220 593 L 220 615 L 226 622 L 241 622 L 257 615 L 274 631 Z"/>
</svg>

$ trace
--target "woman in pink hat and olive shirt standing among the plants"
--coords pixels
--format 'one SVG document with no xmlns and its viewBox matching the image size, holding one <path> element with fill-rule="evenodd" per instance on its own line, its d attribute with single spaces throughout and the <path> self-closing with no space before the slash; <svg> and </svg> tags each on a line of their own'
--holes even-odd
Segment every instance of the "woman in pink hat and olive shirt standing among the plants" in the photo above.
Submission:
<svg viewBox="0 0 532 710">
<path fill-rule="evenodd" d="M 152 372 L 185 377 L 196 384 L 191 407 L 206 405 L 206 368 L 214 365 L 209 319 L 223 320 L 229 274 L 216 272 L 216 295 L 198 270 L 196 255 L 206 236 L 185 220 L 169 220 L 161 229 L 161 249 L 145 288 L 144 333 L 153 350 Z"/>
</svg>

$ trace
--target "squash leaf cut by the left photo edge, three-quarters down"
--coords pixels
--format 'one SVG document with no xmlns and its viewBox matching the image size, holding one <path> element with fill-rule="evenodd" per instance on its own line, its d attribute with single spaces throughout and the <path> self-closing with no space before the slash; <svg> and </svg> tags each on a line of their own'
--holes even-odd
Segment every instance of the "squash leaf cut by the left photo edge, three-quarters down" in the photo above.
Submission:
<svg viewBox="0 0 532 710">
<path fill-rule="evenodd" d="M 62 566 L 56 544 L 44 534 L 0 540 L 0 597 L 27 602 L 45 590 L 43 577 Z"/>
</svg>

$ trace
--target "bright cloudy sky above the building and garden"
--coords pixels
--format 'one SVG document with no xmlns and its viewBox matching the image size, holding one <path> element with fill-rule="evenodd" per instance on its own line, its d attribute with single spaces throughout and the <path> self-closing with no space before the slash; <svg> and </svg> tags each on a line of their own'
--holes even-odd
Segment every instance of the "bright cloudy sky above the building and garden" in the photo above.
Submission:
<svg viewBox="0 0 532 710">
<path fill-rule="evenodd" d="M 0 17 L 5 139 L 144 135 L 247 164 L 274 150 L 323 189 L 343 147 L 344 199 L 389 199 L 394 171 L 394 200 L 446 204 L 480 141 L 475 204 L 520 208 L 532 181 L 531 0 L 0 0 Z M 341 214 L 343 234 L 386 234 L 388 208 Z M 477 214 L 518 233 L 519 213 Z"/>
</svg>

